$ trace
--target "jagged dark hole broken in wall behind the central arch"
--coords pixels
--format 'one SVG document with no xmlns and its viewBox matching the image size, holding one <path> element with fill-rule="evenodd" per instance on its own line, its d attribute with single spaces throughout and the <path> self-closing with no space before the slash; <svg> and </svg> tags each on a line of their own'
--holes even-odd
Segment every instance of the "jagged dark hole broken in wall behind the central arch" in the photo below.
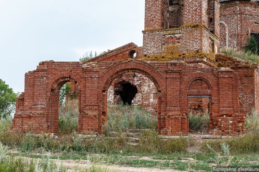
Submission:
<svg viewBox="0 0 259 172">
<path fill-rule="evenodd" d="M 115 94 L 120 96 L 120 101 L 122 101 L 124 105 L 126 104 L 132 105 L 133 99 L 137 93 L 138 93 L 137 87 L 133 86 L 130 83 L 119 84 L 119 87 L 115 91 Z"/>
</svg>

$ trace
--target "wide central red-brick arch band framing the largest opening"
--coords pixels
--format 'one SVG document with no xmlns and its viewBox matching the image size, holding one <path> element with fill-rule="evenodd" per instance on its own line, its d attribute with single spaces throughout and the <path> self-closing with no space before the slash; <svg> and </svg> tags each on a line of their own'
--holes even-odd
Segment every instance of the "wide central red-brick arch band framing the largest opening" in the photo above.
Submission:
<svg viewBox="0 0 259 172">
<path fill-rule="evenodd" d="M 99 132 L 102 132 L 102 125 L 105 125 L 107 122 L 107 91 L 111 86 L 112 81 L 116 79 L 118 76 L 128 73 L 141 73 L 147 78 L 149 78 L 155 85 L 158 91 L 158 103 L 157 103 L 157 115 L 158 115 L 158 132 L 161 129 L 161 99 L 165 99 L 166 88 L 165 84 L 162 81 L 163 75 L 158 72 L 158 70 L 149 63 L 129 60 L 124 62 L 118 62 L 116 64 L 112 64 L 109 66 L 104 72 L 101 74 L 100 82 L 98 90 L 100 90 L 98 97 L 101 98 L 100 106 L 99 106 Z M 165 102 L 163 102 L 165 103 Z M 101 115 L 101 118 L 100 118 Z"/>
</svg>

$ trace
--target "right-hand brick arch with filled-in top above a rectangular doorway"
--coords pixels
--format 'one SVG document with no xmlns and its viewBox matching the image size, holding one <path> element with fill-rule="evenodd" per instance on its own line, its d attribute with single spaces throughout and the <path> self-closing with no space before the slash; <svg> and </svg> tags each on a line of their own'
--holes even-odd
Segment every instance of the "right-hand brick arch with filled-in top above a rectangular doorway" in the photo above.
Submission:
<svg viewBox="0 0 259 172">
<path fill-rule="evenodd" d="M 193 72 L 185 77 L 181 88 L 184 94 L 181 108 L 188 119 L 187 131 L 189 132 L 190 129 L 190 112 L 192 111 L 200 116 L 208 113 L 208 117 L 205 118 L 207 126 L 204 134 L 213 133 L 218 128 L 218 121 L 215 119 L 218 115 L 218 105 L 215 104 L 218 102 L 218 88 L 215 79 L 205 72 Z M 202 134 L 202 131 L 200 133 Z"/>
</svg>

